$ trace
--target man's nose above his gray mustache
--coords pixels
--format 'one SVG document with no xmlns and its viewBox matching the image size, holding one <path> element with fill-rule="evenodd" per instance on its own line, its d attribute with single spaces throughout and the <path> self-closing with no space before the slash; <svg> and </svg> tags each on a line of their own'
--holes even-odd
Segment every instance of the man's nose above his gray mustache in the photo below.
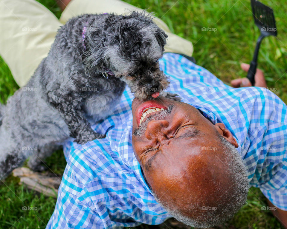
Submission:
<svg viewBox="0 0 287 229">
<path fill-rule="evenodd" d="M 154 140 L 155 138 L 157 138 L 158 141 L 164 140 L 169 134 L 168 126 L 168 121 L 164 119 L 149 121 L 145 136 L 148 140 Z"/>
</svg>

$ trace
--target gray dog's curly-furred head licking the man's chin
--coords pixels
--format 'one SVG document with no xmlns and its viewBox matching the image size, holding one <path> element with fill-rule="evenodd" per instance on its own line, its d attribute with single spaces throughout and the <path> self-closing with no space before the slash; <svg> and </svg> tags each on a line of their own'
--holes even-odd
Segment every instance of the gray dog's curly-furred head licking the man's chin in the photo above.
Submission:
<svg viewBox="0 0 287 229">
<path fill-rule="evenodd" d="M 126 82 L 135 97 L 147 99 L 169 85 L 159 69 L 167 34 L 144 12 L 102 15 L 86 30 L 85 71 L 111 71 Z"/>
</svg>

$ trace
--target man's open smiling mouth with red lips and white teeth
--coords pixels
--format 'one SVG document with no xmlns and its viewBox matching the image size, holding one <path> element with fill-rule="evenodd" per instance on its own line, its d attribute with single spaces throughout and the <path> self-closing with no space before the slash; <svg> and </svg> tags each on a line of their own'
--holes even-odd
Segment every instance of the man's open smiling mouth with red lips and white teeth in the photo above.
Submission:
<svg viewBox="0 0 287 229">
<path fill-rule="evenodd" d="M 151 116 L 154 112 L 161 112 L 162 110 L 165 110 L 165 109 L 167 108 L 155 100 L 148 100 L 144 103 L 139 104 L 135 111 L 138 126 L 146 118 Z"/>
</svg>

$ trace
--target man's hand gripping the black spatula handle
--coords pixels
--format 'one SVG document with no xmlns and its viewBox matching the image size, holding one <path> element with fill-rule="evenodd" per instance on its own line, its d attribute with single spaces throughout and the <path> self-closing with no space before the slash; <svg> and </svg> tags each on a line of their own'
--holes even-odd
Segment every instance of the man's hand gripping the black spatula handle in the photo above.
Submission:
<svg viewBox="0 0 287 229">
<path fill-rule="evenodd" d="M 249 64 L 245 64 L 245 63 L 241 64 L 241 68 L 245 72 L 248 72 L 249 66 L 250 66 Z M 251 87 L 252 86 L 251 82 L 246 77 L 232 80 L 230 83 L 231 83 L 231 86 L 233 87 Z M 257 69 L 256 71 L 254 86 L 267 88 L 267 84 L 266 84 L 263 72 L 260 69 Z"/>
</svg>

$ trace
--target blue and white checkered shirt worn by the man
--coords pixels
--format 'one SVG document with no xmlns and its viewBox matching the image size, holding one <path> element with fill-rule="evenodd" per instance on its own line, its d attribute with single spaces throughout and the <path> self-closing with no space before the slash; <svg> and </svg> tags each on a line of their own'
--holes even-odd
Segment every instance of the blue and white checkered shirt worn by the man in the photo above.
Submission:
<svg viewBox="0 0 287 229">
<path fill-rule="evenodd" d="M 160 67 L 168 91 L 224 123 L 237 140 L 251 186 L 287 211 L 286 105 L 259 87 L 232 88 L 181 55 L 165 53 Z M 160 224 L 170 215 L 159 205 L 132 150 L 133 95 L 127 87 L 114 115 L 92 128 L 105 139 L 64 144 L 67 166 L 47 228 L 121 228 Z"/>
</svg>

